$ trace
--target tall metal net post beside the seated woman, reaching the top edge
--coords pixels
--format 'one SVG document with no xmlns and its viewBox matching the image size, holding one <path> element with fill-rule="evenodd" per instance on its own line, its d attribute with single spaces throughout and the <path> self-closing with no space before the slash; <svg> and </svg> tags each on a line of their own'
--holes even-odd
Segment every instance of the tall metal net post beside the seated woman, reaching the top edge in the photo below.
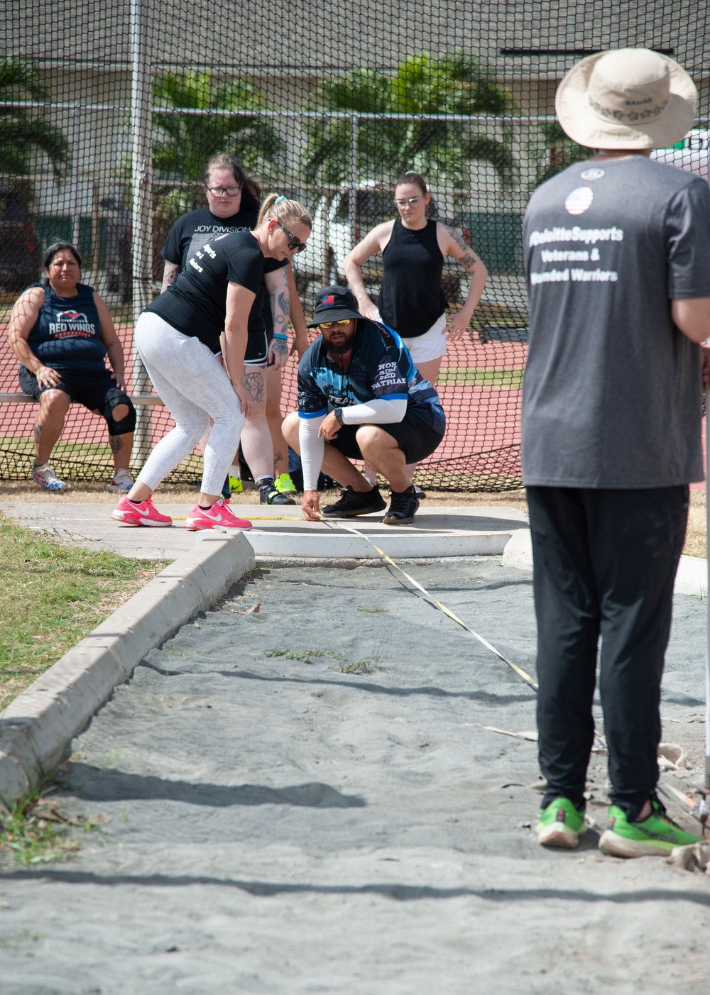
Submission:
<svg viewBox="0 0 710 995">
<path fill-rule="evenodd" d="M 152 299 L 152 95 L 148 8 L 150 0 L 130 0 L 130 136 L 132 182 L 133 327 Z M 132 392 L 149 394 L 150 380 L 133 347 Z M 133 436 L 133 466 L 145 462 L 151 448 L 152 408 L 140 405 Z"/>
</svg>

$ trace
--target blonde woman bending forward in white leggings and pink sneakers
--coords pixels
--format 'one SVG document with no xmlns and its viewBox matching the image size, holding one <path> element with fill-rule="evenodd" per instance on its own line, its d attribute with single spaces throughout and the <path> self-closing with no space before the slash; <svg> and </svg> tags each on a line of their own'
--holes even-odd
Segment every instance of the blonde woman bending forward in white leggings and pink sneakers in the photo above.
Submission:
<svg viewBox="0 0 710 995">
<path fill-rule="evenodd" d="M 193 531 L 251 528 L 220 495 L 245 418 L 265 392 L 264 268 L 267 260 L 291 259 L 310 234 L 306 208 L 272 194 L 264 202 L 254 231 L 213 237 L 140 314 L 135 345 L 175 428 L 155 446 L 112 517 L 132 525 L 170 525 L 169 515 L 154 507 L 152 493 L 192 451 L 211 419 L 202 490 L 185 527 Z M 223 363 L 217 358 L 220 351 Z M 251 365 L 247 365 L 248 356 Z M 262 484 L 263 491 L 273 488 L 268 426 L 266 439 L 260 451 L 246 454 L 257 483 L 260 479 L 270 482 Z M 260 496 L 263 500 L 261 490 Z"/>
</svg>

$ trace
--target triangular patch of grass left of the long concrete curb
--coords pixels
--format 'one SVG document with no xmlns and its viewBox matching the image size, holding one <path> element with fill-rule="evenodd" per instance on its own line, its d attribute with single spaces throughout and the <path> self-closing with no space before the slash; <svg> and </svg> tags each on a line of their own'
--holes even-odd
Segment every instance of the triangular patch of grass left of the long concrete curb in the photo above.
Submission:
<svg viewBox="0 0 710 995">
<path fill-rule="evenodd" d="M 58 542 L 0 514 L 0 708 L 163 565 Z"/>
</svg>

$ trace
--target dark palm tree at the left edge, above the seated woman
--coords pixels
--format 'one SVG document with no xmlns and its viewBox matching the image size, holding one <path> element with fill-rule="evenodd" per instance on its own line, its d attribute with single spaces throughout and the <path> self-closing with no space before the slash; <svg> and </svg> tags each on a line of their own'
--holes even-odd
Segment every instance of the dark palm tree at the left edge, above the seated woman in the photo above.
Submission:
<svg viewBox="0 0 710 995">
<path fill-rule="evenodd" d="M 0 100 L 49 100 L 40 70 L 28 59 L 0 59 Z M 69 142 L 62 131 L 33 107 L 0 109 L 0 172 L 24 175 L 31 171 L 39 150 L 52 163 L 56 179 L 69 163 Z"/>
</svg>

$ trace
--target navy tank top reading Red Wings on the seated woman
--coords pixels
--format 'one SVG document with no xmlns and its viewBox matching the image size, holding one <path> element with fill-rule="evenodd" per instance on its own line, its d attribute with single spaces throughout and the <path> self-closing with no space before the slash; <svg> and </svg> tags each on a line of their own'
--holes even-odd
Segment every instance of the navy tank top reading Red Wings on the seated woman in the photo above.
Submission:
<svg viewBox="0 0 710 995">
<path fill-rule="evenodd" d="M 45 366 L 67 370 L 102 370 L 106 346 L 94 302 L 94 288 L 77 284 L 77 295 L 60 298 L 49 284 L 34 284 L 45 292 L 27 343 Z"/>
</svg>

